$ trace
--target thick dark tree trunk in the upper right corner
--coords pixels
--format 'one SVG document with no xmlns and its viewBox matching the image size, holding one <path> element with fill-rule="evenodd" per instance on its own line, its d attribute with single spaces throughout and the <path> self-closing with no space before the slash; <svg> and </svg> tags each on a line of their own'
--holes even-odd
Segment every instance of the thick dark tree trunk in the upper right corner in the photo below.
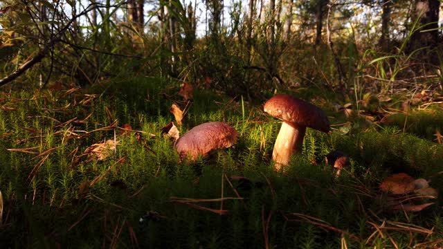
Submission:
<svg viewBox="0 0 443 249">
<path fill-rule="evenodd" d="M 429 53 L 430 50 L 435 48 L 438 44 L 438 15 L 440 12 L 440 1 L 439 0 L 416 0 L 415 9 L 412 15 L 412 21 L 418 20 L 417 25 L 412 26 L 414 32 L 408 44 L 408 53 L 424 48 L 417 56 L 421 56 L 422 59 L 428 59 L 429 62 L 437 62 L 437 56 L 435 53 Z M 431 30 L 432 29 L 432 30 Z M 426 32 L 420 32 L 422 30 L 431 30 Z"/>
</svg>

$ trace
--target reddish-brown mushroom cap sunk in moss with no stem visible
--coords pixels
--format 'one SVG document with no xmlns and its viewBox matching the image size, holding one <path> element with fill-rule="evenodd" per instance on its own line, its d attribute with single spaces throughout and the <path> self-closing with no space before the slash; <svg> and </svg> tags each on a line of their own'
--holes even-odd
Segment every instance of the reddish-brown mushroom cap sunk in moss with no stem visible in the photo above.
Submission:
<svg viewBox="0 0 443 249">
<path fill-rule="evenodd" d="M 231 147 L 237 142 L 238 133 L 225 122 L 206 122 L 190 129 L 174 144 L 183 161 L 195 161 L 210 151 Z"/>
</svg>

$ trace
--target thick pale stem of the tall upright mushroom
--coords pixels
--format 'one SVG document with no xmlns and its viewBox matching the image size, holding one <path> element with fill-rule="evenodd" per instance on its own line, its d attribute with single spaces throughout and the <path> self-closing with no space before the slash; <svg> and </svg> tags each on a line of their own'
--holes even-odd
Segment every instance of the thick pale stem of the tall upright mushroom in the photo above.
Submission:
<svg viewBox="0 0 443 249">
<path fill-rule="evenodd" d="M 280 170 L 282 166 L 288 165 L 291 156 L 302 151 L 305 132 L 306 127 L 283 121 L 272 152 L 275 169 Z"/>
</svg>

